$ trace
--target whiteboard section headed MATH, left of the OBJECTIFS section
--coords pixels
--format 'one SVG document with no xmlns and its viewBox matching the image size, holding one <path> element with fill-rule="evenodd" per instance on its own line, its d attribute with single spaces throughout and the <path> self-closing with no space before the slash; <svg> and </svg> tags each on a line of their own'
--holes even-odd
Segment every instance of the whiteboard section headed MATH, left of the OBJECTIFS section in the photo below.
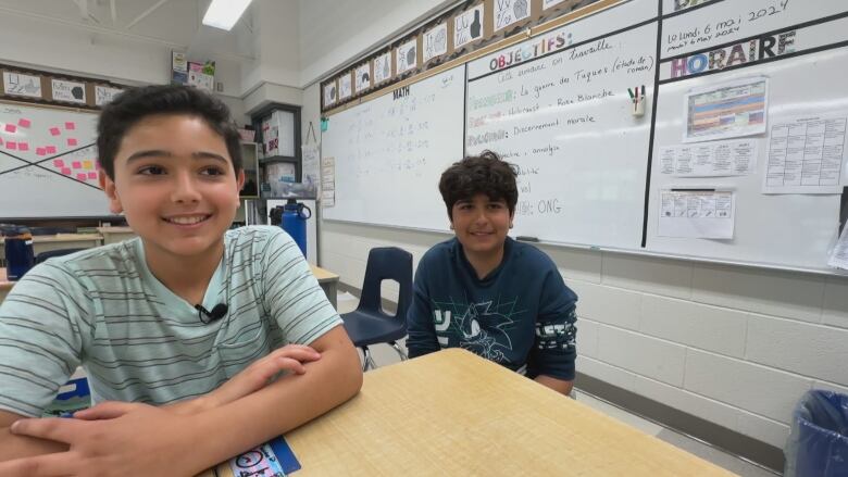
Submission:
<svg viewBox="0 0 848 477">
<path fill-rule="evenodd" d="M 324 218 L 447 231 L 438 181 L 462 159 L 464 83 L 461 65 L 331 116 L 321 155 L 335 162 L 335 205 Z"/>
</svg>

